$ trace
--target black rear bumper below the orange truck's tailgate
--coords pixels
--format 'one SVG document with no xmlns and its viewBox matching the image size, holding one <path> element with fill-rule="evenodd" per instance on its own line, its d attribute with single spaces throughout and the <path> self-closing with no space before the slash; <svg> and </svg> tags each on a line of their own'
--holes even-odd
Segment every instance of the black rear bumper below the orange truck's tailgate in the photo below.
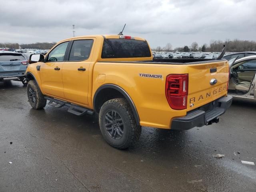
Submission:
<svg viewBox="0 0 256 192">
<path fill-rule="evenodd" d="M 213 122 L 217 123 L 218 116 L 224 114 L 231 104 L 232 96 L 219 98 L 210 104 L 207 104 L 206 106 L 202 106 L 198 109 L 188 112 L 185 117 L 174 118 L 172 120 L 171 129 L 188 130 L 194 127 L 209 125 Z"/>
</svg>

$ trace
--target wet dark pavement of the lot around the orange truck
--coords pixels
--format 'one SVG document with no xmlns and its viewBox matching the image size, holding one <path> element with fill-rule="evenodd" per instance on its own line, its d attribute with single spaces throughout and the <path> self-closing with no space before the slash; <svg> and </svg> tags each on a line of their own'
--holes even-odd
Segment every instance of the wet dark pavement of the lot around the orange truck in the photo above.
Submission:
<svg viewBox="0 0 256 192">
<path fill-rule="evenodd" d="M 234 102 L 218 124 L 186 132 L 143 127 L 117 150 L 93 116 L 27 100 L 21 82 L 0 83 L 0 192 L 256 191 L 256 166 L 241 163 L 256 163 L 256 104 Z"/>
</svg>

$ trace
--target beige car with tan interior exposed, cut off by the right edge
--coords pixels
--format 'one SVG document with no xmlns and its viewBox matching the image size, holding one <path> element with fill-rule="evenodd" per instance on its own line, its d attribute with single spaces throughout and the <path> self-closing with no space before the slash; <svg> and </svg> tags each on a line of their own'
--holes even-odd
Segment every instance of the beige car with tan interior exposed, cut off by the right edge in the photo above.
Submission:
<svg viewBox="0 0 256 192">
<path fill-rule="evenodd" d="M 228 94 L 237 100 L 256 102 L 256 55 L 231 58 Z"/>
</svg>

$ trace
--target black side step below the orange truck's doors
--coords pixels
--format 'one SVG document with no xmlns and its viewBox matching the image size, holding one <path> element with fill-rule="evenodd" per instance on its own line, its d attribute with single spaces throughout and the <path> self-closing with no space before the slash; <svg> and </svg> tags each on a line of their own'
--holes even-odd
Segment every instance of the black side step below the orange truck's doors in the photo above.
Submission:
<svg viewBox="0 0 256 192">
<path fill-rule="evenodd" d="M 70 112 L 72 114 L 75 114 L 75 115 L 78 115 L 78 116 L 82 116 L 82 115 L 85 115 L 85 114 L 89 114 L 89 115 L 94 114 L 93 110 L 85 108 L 85 107 L 81 107 L 81 106 L 71 104 L 71 103 L 68 103 L 68 102 L 65 102 L 65 101 L 54 99 L 54 98 L 51 98 L 51 97 L 48 97 L 48 96 L 45 96 L 44 98 L 49 100 L 48 104 L 50 106 L 53 106 L 53 107 L 56 107 L 56 108 L 66 106 L 66 107 L 68 107 L 68 112 Z"/>
</svg>

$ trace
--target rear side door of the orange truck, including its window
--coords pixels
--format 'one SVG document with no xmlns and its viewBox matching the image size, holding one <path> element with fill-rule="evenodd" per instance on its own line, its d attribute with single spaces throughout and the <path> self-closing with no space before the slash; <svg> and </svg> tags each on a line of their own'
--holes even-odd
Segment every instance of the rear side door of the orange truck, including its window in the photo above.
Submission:
<svg viewBox="0 0 256 192">
<path fill-rule="evenodd" d="M 83 38 L 70 44 L 62 70 L 64 96 L 70 102 L 88 105 L 88 75 L 95 41 L 95 38 Z"/>
</svg>

